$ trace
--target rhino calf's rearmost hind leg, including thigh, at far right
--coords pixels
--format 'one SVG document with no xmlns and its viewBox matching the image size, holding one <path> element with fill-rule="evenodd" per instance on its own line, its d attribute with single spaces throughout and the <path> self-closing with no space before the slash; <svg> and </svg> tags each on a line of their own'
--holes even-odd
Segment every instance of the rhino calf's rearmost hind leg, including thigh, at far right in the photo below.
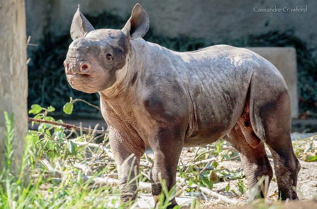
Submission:
<svg viewBox="0 0 317 209">
<path fill-rule="evenodd" d="M 296 185 L 301 165 L 295 156 L 290 135 L 289 94 L 285 91 L 261 100 L 254 97 L 253 101 L 250 100 L 250 116 L 255 133 L 271 150 L 279 197 L 282 200 L 298 199 Z"/>
</svg>

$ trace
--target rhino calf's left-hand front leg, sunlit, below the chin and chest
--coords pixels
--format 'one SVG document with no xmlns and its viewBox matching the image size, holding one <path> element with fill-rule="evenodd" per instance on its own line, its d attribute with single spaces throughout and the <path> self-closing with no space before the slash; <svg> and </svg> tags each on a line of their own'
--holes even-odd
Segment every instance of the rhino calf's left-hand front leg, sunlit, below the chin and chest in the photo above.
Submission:
<svg viewBox="0 0 317 209">
<path fill-rule="evenodd" d="M 140 159 L 145 151 L 143 141 L 129 133 L 109 127 L 110 147 L 117 165 L 121 205 L 137 197 Z"/>
</svg>

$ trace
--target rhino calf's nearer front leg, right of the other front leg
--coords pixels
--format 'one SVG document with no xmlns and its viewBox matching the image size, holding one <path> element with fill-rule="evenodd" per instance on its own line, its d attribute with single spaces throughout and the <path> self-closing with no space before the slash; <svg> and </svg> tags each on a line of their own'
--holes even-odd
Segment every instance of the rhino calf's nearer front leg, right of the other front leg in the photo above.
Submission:
<svg viewBox="0 0 317 209">
<path fill-rule="evenodd" d="M 168 191 L 176 183 L 177 165 L 182 152 L 185 134 L 182 131 L 177 131 L 177 129 L 160 128 L 151 144 L 154 152 L 154 163 L 150 179 L 155 205 L 157 205 L 159 195 L 163 193 L 160 179 L 165 182 Z M 173 208 L 177 205 L 175 197 L 171 200 L 171 203 L 168 208 Z"/>
</svg>

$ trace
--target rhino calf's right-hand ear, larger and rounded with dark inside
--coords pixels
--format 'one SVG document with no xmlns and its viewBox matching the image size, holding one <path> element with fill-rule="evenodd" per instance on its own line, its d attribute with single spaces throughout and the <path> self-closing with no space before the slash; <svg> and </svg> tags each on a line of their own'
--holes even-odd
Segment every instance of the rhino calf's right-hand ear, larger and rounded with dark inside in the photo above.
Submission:
<svg viewBox="0 0 317 209">
<path fill-rule="evenodd" d="M 149 17 L 142 6 L 137 3 L 132 9 L 131 17 L 122 28 L 122 31 L 132 40 L 142 38 L 149 29 Z"/>
</svg>

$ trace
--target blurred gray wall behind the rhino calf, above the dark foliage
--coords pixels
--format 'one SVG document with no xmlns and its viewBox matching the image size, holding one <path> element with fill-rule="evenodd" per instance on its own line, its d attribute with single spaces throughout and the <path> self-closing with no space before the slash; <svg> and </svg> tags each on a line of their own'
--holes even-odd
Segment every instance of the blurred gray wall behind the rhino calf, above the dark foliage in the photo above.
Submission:
<svg viewBox="0 0 317 209">
<path fill-rule="evenodd" d="M 69 31 L 77 4 L 83 13 L 111 10 L 122 17 L 139 2 L 160 34 L 184 34 L 213 42 L 238 39 L 270 30 L 292 29 L 317 55 L 316 0 L 26 0 L 27 35 L 32 43 L 43 37 L 44 30 L 60 35 Z M 255 12 L 254 7 L 305 8 L 307 12 Z"/>
</svg>

